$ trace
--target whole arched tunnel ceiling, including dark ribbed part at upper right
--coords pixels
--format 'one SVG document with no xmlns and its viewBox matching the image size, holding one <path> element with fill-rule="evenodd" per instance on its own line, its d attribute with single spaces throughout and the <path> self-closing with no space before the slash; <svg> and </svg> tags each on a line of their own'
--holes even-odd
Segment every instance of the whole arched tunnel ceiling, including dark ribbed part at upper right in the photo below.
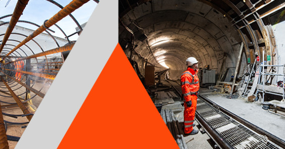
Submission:
<svg viewBox="0 0 285 149">
<path fill-rule="evenodd" d="M 229 57 L 227 66 L 235 67 L 242 39 L 253 43 L 251 32 L 243 27 L 253 22 L 253 12 L 269 5 L 278 6 L 271 1 L 122 0 L 119 42 L 127 56 L 128 48 L 133 47 L 156 66 L 164 61 L 170 69 L 178 70 L 185 66 L 187 57 L 195 56 L 200 67 L 209 65 L 219 71 L 224 52 Z M 262 11 L 260 14 L 266 14 Z M 257 25 L 253 23 L 254 26 Z M 243 28 L 240 33 L 239 28 Z"/>
</svg>

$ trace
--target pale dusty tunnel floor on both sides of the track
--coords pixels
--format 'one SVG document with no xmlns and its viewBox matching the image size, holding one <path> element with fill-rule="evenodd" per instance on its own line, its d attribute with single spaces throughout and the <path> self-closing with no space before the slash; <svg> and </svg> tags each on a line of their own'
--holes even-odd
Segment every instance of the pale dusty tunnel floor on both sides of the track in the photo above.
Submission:
<svg viewBox="0 0 285 149">
<path fill-rule="evenodd" d="M 225 98 L 228 94 L 220 94 L 206 88 L 200 88 L 200 94 L 210 99 L 212 102 L 223 107 L 224 109 L 238 115 L 248 122 L 272 133 L 276 137 L 285 140 L 285 114 L 277 112 L 277 114 L 269 110 L 262 109 L 262 104 L 259 101 L 248 102 L 244 98 L 228 99 Z M 179 123 L 183 124 L 183 106 L 180 102 L 163 105 L 162 109 L 166 108 L 174 111 Z M 284 114 L 284 115 L 283 115 Z M 201 125 L 197 121 L 194 122 L 194 129 L 200 129 Z M 207 135 L 202 134 L 201 129 L 196 135 L 184 136 L 188 148 L 214 148 L 214 143 Z"/>
</svg>

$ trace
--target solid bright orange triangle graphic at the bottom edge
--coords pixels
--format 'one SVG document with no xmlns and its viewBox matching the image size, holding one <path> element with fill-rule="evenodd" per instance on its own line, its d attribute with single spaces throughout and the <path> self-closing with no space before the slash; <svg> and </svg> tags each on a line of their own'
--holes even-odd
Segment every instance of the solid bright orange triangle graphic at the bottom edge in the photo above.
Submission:
<svg viewBox="0 0 285 149">
<path fill-rule="evenodd" d="M 58 148 L 179 147 L 118 44 Z"/>
</svg>

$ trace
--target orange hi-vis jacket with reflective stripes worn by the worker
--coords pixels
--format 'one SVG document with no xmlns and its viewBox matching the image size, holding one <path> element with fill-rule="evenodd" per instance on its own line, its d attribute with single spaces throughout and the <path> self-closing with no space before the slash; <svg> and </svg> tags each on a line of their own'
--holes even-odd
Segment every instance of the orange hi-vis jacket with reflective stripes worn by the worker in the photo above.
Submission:
<svg viewBox="0 0 285 149">
<path fill-rule="evenodd" d="M 190 67 L 182 73 L 181 76 L 181 88 L 183 94 L 183 100 L 188 102 L 191 100 L 191 94 L 196 94 L 200 88 L 199 78 L 197 76 L 198 70 L 194 70 Z"/>
</svg>

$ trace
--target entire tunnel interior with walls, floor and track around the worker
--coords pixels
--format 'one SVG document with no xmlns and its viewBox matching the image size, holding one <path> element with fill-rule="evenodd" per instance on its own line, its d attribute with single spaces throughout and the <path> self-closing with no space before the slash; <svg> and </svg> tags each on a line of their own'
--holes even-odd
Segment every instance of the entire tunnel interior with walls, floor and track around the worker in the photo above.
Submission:
<svg viewBox="0 0 285 149">
<path fill-rule="evenodd" d="M 273 116 L 285 112 L 284 6 L 270 0 L 119 1 L 119 43 L 180 148 L 285 147 L 283 121 L 275 121 L 283 116 Z M 188 121 L 181 91 L 188 57 L 199 66 L 198 134 L 206 131 L 211 147 L 197 145 L 209 143 L 200 135 L 180 131 Z"/>
</svg>

